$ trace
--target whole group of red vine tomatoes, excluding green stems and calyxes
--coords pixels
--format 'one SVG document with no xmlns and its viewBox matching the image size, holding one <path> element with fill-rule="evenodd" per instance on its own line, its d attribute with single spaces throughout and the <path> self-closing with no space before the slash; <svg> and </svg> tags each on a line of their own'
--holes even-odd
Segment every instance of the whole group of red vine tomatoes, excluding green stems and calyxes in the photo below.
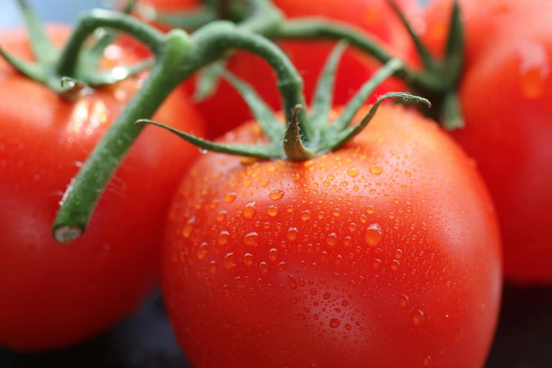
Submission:
<svg viewBox="0 0 552 368">
<path fill-rule="evenodd" d="M 200 155 L 147 128 L 70 245 L 50 235 L 61 194 L 147 73 L 66 102 L 0 61 L 0 344 L 63 348 L 99 333 L 139 305 L 161 259 L 168 314 L 194 367 L 483 367 L 503 275 L 552 283 L 552 3 L 459 2 L 465 128 L 448 133 L 387 105 L 348 145 L 302 162 Z M 274 3 L 289 18 L 360 27 L 419 64 L 385 0 Z M 451 5 L 400 2 L 436 55 Z M 68 28 L 49 35 L 60 45 Z M 0 43 L 32 59 L 23 32 L 3 31 Z M 332 45 L 278 45 L 308 101 Z M 127 42 L 105 54 L 108 67 L 144 56 Z M 346 51 L 332 118 L 378 66 Z M 262 59 L 238 53 L 226 68 L 281 108 Z M 391 79 L 374 97 L 406 88 Z M 264 142 L 231 85 L 196 104 L 194 89 L 185 82 L 155 119 L 220 142 Z"/>
</svg>

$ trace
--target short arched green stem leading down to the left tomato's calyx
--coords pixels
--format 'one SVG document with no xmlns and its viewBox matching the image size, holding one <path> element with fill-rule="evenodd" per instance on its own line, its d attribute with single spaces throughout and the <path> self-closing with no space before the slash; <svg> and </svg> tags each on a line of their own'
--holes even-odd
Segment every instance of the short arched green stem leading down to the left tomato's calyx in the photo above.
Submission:
<svg viewBox="0 0 552 368">
<path fill-rule="evenodd" d="M 86 39 L 98 28 L 113 28 L 114 30 L 130 33 L 130 35 L 146 44 L 154 54 L 159 52 L 159 47 L 165 39 L 162 32 L 132 16 L 116 11 L 94 9 L 80 18 L 75 30 L 73 30 L 73 35 L 63 47 L 56 66 L 57 75 L 74 75 L 80 49 Z"/>
</svg>

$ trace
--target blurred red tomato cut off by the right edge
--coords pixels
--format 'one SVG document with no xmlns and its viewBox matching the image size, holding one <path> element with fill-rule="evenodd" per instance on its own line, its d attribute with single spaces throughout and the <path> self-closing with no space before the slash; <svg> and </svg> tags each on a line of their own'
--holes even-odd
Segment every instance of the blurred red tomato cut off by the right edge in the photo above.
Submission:
<svg viewBox="0 0 552 368">
<path fill-rule="evenodd" d="M 459 90 L 466 126 L 452 135 L 477 161 L 496 203 L 505 277 L 549 285 L 552 33 L 543 20 L 552 17 L 552 3 L 488 0 L 477 9 L 465 22 L 472 55 Z M 446 24 L 432 18 L 436 13 L 429 12 L 428 24 Z M 426 39 L 430 45 L 444 42 Z"/>
</svg>

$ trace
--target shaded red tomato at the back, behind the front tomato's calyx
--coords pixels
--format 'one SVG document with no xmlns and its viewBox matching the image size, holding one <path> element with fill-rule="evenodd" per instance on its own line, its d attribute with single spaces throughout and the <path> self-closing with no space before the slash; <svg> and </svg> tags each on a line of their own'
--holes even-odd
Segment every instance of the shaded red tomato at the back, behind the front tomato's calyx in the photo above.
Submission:
<svg viewBox="0 0 552 368">
<path fill-rule="evenodd" d="M 159 11 L 174 11 L 176 8 L 174 5 L 177 2 L 179 1 L 159 1 L 159 3 L 149 1 Z M 409 13 L 417 9 L 417 1 L 415 0 L 398 2 Z M 183 9 L 195 8 L 189 1 L 180 1 L 180 3 Z M 392 48 L 393 53 L 398 56 L 413 54 L 413 47 L 407 33 L 403 30 L 385 0 L 350 0 L 348 6 L 343 6 L 343 4 L 334 0 L 276 0 L 274 4 L 281 8 L 289 18 L 323 16 L 347 22 L 370 32 L 375 39 Z M 305 96 L 307 101 L 310 101 L 319 73 L 333 47 L 333 43 L 286 41 L 278 42 L 278 45 L 286 51 L 300 71 L 305 81 Z M 340 65 L 336 93 L 334 94 L 336 104 L 348 102 L 352 94 L 380 66 L 373 59 L 352 49 L 345 52 Z M 274 109 L 281 107 L 281 97 L 276 88 L 276 76 L 269 64 L 263 59 L 253 54 L 239 52 L 231 57 L 227 68 L 253 85 L 254 89 L 259 92 L 269 106 Z M 185 90 L 189 94 L 194 93 L 196 80 L 197 78 L 190 78 L 184 84 Z M 388 80 L 376 90 L 374 95 L 404 89 L 405 87 L 398 80 Z M 373 100 L 371 101 L 373 102 Z M 207 121 L 210 137 L 217 137 L 252 116 L 242 97 L 224 80 L 219 83 L 213 96 L 197 103 L 196 106 Z"/>
</svg>

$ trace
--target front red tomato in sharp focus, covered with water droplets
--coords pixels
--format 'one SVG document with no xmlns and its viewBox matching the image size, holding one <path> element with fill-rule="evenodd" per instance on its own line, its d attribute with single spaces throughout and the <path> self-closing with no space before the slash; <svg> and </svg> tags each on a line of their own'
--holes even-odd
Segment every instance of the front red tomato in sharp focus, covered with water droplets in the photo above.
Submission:
<svg viewBox="0 0 552 368">
<path fill-rule="evenodd" d="M 223 138 L 261 140 L 252 124 Z M 310 161 L 205 154 L 166 237 L 164 298 L 194 367 L 484 364 L 493 206 L 460 147 L 402 107 Z"/>
</svg>

